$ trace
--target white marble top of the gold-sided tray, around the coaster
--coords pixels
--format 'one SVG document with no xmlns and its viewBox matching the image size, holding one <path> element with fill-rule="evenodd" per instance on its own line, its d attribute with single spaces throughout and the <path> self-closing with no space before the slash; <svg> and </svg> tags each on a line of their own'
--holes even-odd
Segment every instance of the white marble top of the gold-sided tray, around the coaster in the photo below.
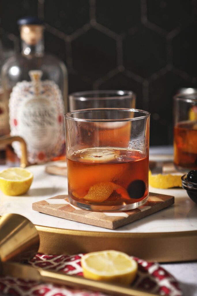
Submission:
<svg viewBox="0 0 197 296">
<path fill-rule="evenodd" d="M 64 166 L 65 163 L 59 163 L 58 165 Z M 114 230 L 69 221 L 33 211 L 33 202 L 46 200 L 60 194 L 67 194 L 67 178 L 64 176 L 48 175 L 45 173 L 45 165 L 30 166 L 28 167 L 28 170 L 34 174 L 34 180 L 30 190 L 19 197 L 6 196 L 0 192 L 0 215 L 4 215 L 6 213 L 25 215 L 32 221 L 32 223 L 41 226 L 77 229 L 83 231 L 114 232 Z M 197 206 L 187 196 L 184 189 L 164 190 L 150 187 L 150 192 L 175 196 L 175 204 L 141 220 L 122 226 L 115 231 L 153 233 L 197 230 Z"/>
</svg>

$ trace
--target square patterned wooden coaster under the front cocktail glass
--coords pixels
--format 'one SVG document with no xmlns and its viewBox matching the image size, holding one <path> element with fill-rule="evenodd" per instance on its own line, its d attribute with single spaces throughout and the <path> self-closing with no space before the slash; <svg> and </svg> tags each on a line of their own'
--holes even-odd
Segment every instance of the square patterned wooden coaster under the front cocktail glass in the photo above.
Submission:
<svg viewBox="0 0 197 296">
<path fill-rule="evenodd" d="M 174 197 L 170 195 L 149 193 L 149 200 L 145 205 L 124 212 L 91 212 L 81 210 L 70 204 L 68 195 L 58 195 L 40 202 L 34 202 L 32 209 L 40 213 L 86 223 L 89 225 L 116 229 L 134 222 L 159 210 L 174 204 Z"/>
</svg>

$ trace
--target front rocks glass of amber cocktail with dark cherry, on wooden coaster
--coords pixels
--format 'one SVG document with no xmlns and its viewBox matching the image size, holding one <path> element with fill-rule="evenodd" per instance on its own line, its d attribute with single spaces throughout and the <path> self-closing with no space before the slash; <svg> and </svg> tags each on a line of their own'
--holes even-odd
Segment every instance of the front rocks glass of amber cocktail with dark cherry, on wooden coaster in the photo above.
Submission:
<svg viewBox="0 0 197 296">
<path fill-rule="evenodd" d="M 71 204 L 116 211 L 139 207 L 148 200 L 149 118 L 149 112 L 123 108 L 65 114 Z M 126 137 L 118 137 L 118 126 L 126 126 Z M 111 132 L 103 137 L 106 130 Z"/>
</svg>

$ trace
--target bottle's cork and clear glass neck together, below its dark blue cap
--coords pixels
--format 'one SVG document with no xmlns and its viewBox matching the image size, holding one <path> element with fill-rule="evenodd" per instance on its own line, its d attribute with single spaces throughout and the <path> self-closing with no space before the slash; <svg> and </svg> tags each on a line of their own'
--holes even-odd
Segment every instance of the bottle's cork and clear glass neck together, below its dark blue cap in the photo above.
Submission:
<svg viewBox="0 0 197 296">
<path fill-rule="evenodd" d="M 40 57 L 44 54 L 43 26 L 22 25 L 20 27 L 21 52 L 27 57 Z"/>
</svg>

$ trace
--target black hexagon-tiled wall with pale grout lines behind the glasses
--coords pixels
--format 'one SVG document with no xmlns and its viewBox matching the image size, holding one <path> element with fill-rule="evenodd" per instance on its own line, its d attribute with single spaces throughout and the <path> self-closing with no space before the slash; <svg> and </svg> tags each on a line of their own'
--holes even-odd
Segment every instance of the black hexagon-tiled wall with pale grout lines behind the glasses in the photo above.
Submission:
<svg viewBox="0 0 197 296">
<path fill-rule="evenodd" d="M 17 19 L 45 22 L 45 50 L 64 60 L 69 93 L 126 89 L 151 112 L 151 145 L 172 144 L 172 96 L 197 87 L 196 0 L 0 0 L 1 39 Z"/>
</svg>

